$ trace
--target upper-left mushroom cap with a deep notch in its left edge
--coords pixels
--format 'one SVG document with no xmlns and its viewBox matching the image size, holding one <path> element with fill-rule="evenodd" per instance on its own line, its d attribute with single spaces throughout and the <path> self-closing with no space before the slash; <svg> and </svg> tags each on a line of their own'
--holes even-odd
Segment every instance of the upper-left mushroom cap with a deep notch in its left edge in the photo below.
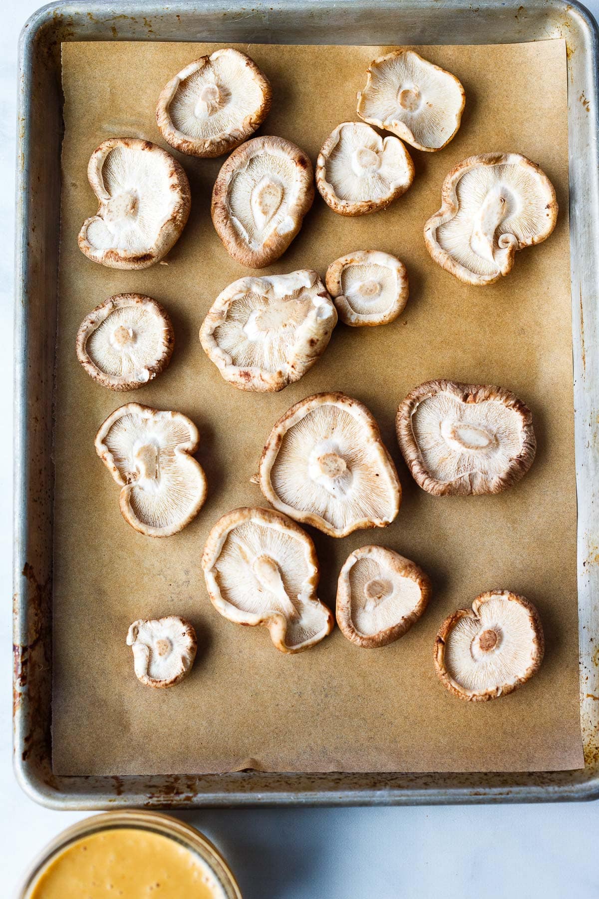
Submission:
<svg viewBox="0 0 599 899">
<path fill-rule="evenodd" d="M 163 259 L 191 204 L 177 160 L 149 140 L 110 138 L 93 151 L 87 177 L 99 203 L 79 232 L 87 258 L 110 269 L 146 269 Z"/>
</svg>

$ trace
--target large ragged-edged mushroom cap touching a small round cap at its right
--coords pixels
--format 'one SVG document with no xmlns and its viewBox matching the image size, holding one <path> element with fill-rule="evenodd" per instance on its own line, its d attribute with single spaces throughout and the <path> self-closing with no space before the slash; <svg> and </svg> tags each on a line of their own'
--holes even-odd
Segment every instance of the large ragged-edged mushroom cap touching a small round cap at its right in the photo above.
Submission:
<svg viewBox="0 0 599 899">
<path fill-rule="evenodd" d="M 233 281 L 210 308 L 199 339 L 225 381 L 282 390 L 327 348 L 337 311 L 316 271 Z"/>
</svg>

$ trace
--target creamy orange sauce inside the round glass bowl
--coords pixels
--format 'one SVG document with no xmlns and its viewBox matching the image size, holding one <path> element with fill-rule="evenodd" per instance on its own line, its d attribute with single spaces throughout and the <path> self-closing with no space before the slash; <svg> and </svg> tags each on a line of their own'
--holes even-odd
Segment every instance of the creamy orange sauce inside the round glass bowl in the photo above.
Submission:
<svg viewBox="0 0 599 899">
<path fill-rule="evenodd" d="M 70 843 L 48 862 L 30 899 L 225 899 L 207 863 L 181 843 L 133 827 Z"/>
</svg>

